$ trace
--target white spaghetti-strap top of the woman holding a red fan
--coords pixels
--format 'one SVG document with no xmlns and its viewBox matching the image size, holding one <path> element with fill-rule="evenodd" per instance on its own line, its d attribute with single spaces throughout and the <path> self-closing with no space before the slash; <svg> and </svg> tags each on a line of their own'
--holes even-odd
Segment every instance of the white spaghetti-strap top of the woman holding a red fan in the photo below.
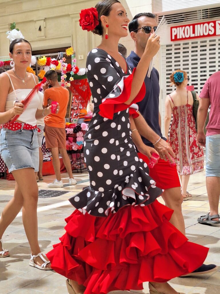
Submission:
<svg viewBox="0 0 220 294">
<path fill-rule="evenodd" d="M 10 79 L 11 86 L 13 88 L 13 92 L 9 93 L 6 98 L 5 111 L 13 108 L 14 101 L 18 100 L 19 102 L 21 102 L 21 100 L 24 100 L 32 90 L 32 89 L 16 89 L 15 90 L 9 74 L 6 73 L 6 75 Z M 32 76 L 33 76 L 33 79 L 34 79 L 34 82 L 36 85 L 34 75 L 32 74 Z M 23 123 L 29 123 L 29 125 L 31 125 L 31 126 L 35 126 L 37 123 L 36 118 L 35 118 L 35 114 L 36 114 L 36 111 L 39 106 L 40 106 L 40 98 L 38 96 L 38 93 L 36 93 L 33 96 L 31 102 L 28 104 L 25 111 L 19 116 L 18 120 L 22 121 Z"/>
</svg>

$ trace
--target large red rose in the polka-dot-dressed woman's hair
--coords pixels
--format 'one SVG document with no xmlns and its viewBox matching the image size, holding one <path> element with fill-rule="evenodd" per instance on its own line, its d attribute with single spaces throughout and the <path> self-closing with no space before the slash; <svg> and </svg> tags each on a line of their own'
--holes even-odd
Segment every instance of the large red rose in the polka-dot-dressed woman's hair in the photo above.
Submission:
<svg viewBox="0 0 220 294">
<path fill-rule="evenodd" d="M 94 7 L 82 9 L 79 16 L 79 25 L 82 26 L 83 30 L 93 31 L 99 24 L 98 11 Z"/>
</svg>

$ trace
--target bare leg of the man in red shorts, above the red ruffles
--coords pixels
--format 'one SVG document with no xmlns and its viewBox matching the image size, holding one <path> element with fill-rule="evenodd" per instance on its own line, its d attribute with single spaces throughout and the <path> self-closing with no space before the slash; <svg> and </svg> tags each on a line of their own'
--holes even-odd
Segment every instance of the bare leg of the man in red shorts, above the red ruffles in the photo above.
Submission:
<svg viewBox="0 0 220 294">
<path fill-rule="evenodd" d="M 162 198 L 167 207 L 174 210 L 170 223 L 172 223 L 182 234 L 185 235 L 185 224 L 182 215 L 182 194 L 180 187 L 166 189 Z"/>
</svg>

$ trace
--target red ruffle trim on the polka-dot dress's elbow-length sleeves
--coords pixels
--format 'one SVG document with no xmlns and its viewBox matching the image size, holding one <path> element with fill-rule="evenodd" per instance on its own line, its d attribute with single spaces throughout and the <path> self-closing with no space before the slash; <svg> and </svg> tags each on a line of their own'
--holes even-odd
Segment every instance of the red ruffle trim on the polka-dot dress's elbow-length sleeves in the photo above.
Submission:
<svg viewBox="0 0 220 294">
<path fill-rule="evenodd" d="M 133 80 L 133 74 L 135 72 L 136 68 L 133 69 L 132 74 L 130 74 L 127 78 L 124 79 L 124 86 L 123 91 L 121 92 L 121 95 L 110 98 L 109 96 L 106 96 L 104 99 L 102 99 L 102 103 L 99 105 L 99 114 L 105 118 L 113 119 L 114 113 L 118 111 L 123 111 L 131 106 L 133 103 L 137 103 L 141 101 L 146 93 L 145 83 L 141 86 L 141 90 L 137 94 L 137 96 L 133 99 L 131 104 L 125 104 L 128 100 L 128 98 L 131 95 L 131 84 Z M 114 93 L 114 92 L 113 92 Z"/>
</svg>

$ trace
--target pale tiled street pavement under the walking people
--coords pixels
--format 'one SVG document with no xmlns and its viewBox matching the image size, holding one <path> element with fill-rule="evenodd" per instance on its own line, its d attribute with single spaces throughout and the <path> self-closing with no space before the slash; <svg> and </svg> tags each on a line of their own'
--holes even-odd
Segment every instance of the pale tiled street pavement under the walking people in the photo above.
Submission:
<svg viewBox="0 0 220 294">
<path fill-rule="evenodd" d="M 89 183 L 87 172 L 76 173 L 74 176 L 78 181 L 76 186 L 66 184 L 64 188 L 58 189 L 68 193 L 53 198 L 39 198 L 38 236 L 40 247 L 45 253 L 52 249 L 52 245 L 57 243 L 58 238 L 64 233 L 64 218 L 73 211 L 68 198 Z M 39 189 L 49 190 L 47 184 L 54 178 L 54 176 L 44 177 L 44 181 L 38 183 Z M 62 179 L 67 183 L 67 174 L 62 174 Z M 204 172 L 190 177 L 188 191 L 193 194 L 193 197 L 182 204 L 187 237 L 192 242 L 209 247 L 206 263 L 215 263 L 220 266 L 220 226 L 197 223 L 198 216 L 209 211 Z M 13 192 L 14 181 L 0 180 L 0 213 Z M 163 202 L 161 198 L 159 201 Z M 30 249 L 23 229 L 21 213 L 6 230 L 4 244 L 11 255 L 0 259 L 0 294 L 67 293 L 63 276 L 53 271 L 38 270 L 29 266 Z M 218 294 L 220 293 L 220 271 L 194 278 L 175 278 L 170 283 L 177 291 L 183 293 Z M 143 291 L 133 292 L 149 293 L 148 284 L 144 284 Z M 114 293 L 128 292 L 115 291 Z"/>
</svg>

